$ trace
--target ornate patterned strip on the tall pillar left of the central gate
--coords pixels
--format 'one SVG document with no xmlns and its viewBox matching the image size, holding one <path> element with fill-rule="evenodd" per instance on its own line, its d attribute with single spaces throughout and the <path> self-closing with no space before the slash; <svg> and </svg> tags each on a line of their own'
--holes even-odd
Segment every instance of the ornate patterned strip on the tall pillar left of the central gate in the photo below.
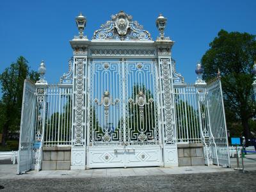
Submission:
<svg viewBox="0 0 256 192">
<path fill-rule="evenodd" d="M 85 59 L 77 59 L 76 67 L 76 126 L 75 126 L 75 145 L 83 145 L 83 74 Z"/>
</svg>

